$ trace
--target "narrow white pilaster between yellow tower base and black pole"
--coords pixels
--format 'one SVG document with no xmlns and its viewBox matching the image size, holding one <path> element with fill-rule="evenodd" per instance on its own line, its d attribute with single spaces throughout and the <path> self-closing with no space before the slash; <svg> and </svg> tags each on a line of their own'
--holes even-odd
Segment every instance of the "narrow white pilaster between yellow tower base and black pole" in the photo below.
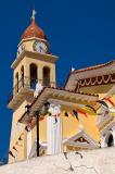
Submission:
<svg viewBox="0 0 115 174">
<path fill-rule="evenodd" d="M 31 150 L 31 130 L 27 132 L 27 159 Z"/>
</svg>

